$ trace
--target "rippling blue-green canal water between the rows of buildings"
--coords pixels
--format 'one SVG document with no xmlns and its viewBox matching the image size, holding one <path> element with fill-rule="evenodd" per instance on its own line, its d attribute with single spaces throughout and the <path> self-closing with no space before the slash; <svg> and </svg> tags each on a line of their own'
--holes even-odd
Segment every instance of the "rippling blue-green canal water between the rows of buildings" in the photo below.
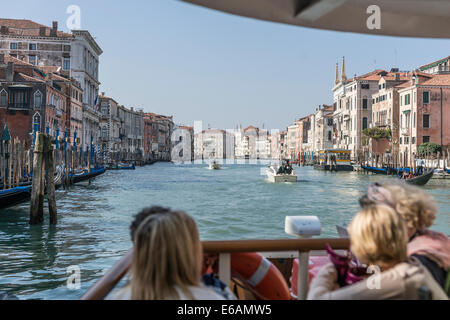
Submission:
<svg viewBox="0 0 450 320">
<path fill-rule="evenodd" d="M 287 238 L 288 215 L 315 215 L 324 237 L 348 223 L 371 182 L 392 181 L 362 173 L 295 168 L 296 184 L 271 184 L 263 165 L 158 163 L 135 171 L 109 171 L 91 185 L 57 195 L 59 223 L 28 225 L 28 204 L 0 212 L 0 292 L 20 299 L 78 299 L 130 247 L 129 224 L 146 206 L 184 210 L 202 240 Z M 450 181 L 424 187 L 438 202 L 435 230 L 450 234 Z M 81 270 L 81 289 L 66 286 L 67 268 Z"/>
</svg>

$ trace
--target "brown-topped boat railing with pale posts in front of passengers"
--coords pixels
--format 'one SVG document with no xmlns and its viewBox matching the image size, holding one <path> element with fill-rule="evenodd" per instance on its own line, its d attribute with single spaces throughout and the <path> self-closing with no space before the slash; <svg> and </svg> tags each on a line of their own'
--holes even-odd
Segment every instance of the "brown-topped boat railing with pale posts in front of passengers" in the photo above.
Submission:
<svg viewBox="0 0 450 320">
<path fill-rule="evenodd" d="M 239 252 L 258 252 L 263 255 L 273 253 L 286 253 L 287 257 L 299 258 L 299 273 L 297 279 L 299 300 L 305 300 L 308 290 L 309 255 L 311 251 L 324 251 L 328 244 L 334 250 L 348 250 L 349 239 L 282 239 L 282 240 L 232 240 L 232 241 L 205 241 L 203 252 L 205 254 L 218 254 L 219 279 L 227 285 L 231 283 L 231 254 Z M 280 257 L 280 255 L 278 255 Z M 98 280 L 81 300 L 103 300 L 116 287 L 128 273 L 133 251 L 125 254 L 106 274 Z"/>
</svg>

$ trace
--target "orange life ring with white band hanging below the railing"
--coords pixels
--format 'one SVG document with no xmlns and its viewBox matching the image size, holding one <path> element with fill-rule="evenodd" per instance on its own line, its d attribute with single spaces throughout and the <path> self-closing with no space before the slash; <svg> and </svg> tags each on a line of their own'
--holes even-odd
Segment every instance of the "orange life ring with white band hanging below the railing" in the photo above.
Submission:
<svg viewBox="0 0 450 320">
<path fill-rule="evenodd" d="M 281 272 L 259 253 L 231 254 L 231 270 L 262 298 L 291 300 L 289 287 Z"/>
</svg>

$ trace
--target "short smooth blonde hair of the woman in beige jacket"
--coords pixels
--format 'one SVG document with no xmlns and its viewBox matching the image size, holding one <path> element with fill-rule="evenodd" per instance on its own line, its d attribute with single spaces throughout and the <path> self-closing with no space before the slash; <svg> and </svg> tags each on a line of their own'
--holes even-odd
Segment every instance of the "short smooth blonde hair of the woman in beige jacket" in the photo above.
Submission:
<svg viewBox="0 0 450 320">
<path fill-rule="evenodd" d="M 406 226 L 391 207 L 379 204 L 362 209 L 348 232 L 351 250 L 362 263 L 389 268 L 406 261 Z"/>
</svg>

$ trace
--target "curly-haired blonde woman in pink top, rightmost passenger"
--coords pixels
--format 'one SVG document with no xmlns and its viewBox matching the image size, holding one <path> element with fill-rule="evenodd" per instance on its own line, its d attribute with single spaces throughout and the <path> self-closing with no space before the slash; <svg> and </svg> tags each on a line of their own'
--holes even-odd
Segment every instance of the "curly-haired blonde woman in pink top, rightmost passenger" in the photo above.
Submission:
<svg viewBox="0 0 450 320">
<path fill-rule="evenodd" d="M 450 239 L 430 228 L 436 219 L 437 205 L 425 191 L 406 183 L 372 184 L 360 199 L 361 207 L 386 204 L 404 219 L 408 229 L 408 255 L 416 257 L 435 280 L 450 292 Z"/>
</svg>

